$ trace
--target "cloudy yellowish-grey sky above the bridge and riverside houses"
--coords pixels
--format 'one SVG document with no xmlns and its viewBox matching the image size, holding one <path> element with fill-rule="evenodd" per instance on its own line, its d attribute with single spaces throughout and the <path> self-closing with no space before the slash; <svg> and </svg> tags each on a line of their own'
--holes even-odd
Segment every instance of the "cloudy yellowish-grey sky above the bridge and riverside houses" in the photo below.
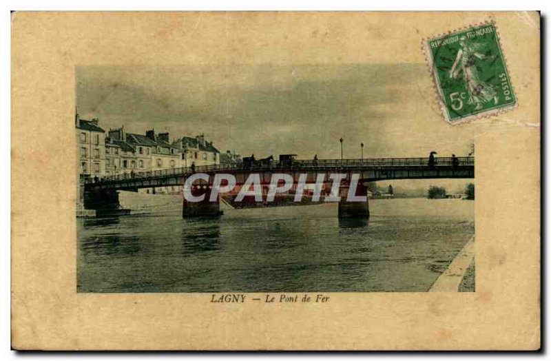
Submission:
<svg viewBox="0 0 551 361">
<path fill-rule="evenodd" d="M 360 143 L 365 158 L 466 155 L 473 127 L 446 123 L 435 94 L 424 63 L 76 68 L 81 118 L 204 133 L 220 152 L 256 158 L 340 158 L 341 137 L 344 158 L 360 158 Z"/>
</svg>

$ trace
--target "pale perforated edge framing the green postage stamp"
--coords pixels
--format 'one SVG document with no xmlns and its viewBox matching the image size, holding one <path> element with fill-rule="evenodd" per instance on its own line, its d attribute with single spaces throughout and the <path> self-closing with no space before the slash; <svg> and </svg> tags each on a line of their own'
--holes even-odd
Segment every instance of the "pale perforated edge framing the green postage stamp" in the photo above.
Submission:
<svg viewBox="0 0 551 361">
<path fill-rule="evenodd" d="M 507 72 L 507 76 L 509 78 L 509 85 L 514 94 L 514 103 L 510 105 L 504 105 L 503 107 L 499 107 L 497 109 L 491 109 L 491 110 L 486 110 L 477 114 L 472 114 L 464 118 L 460 118 L 457 121 L 450 121 L 448 112 L 446 110 L 446 103 L 444 103 L 444 100 L 443 100 L 444 94 L 441 93 L 440 85 L 438 83 L 438 78 L 437 78 L 437 75 L 435 74 L 435 67 L 433 66 L 434 64 L 433 55 L 430 52 L 430 48 L 428 47 L 428 41 L 430 41 L 430 39 L 447 37 L 447 36 L 450 36 L 451 34 L 455 34 L 456 32 L 463 32 L 470 28 L 477 28 L 479 26 L 484 26 L 484 25 L 493 25 L 495 29 L 497 44 L 499 45 L 499 50 L 501 51 L 501 58 L 503 59 L 503 66 L 505 67 L 505 71 Z M 512 76 L 507 66 L 507 59 L 506 59 L 505 53 L 503 52 L 503 46 L 501 46 L 501 36 L 499 34 L 499 28 L 492 18 L 489 18 L 485 21 L 481 21 L 479 23 L 471 23 L 469 25 L 465 25 L 465 26 L 462 26 L 461 28 L 456 28 L 454 30 L 449 30 L 447 32 L 433 34 L 433 36 L 431 37 L 424 37 L 421 41 L 421 50 L 425 56 L 430 77 L 433 79 L 433 87 L 435 88 L 435 98 L 436 98 L 435 101 L 439 105 L 440 112 L 444 117 L 444 120 L 446 121 L 446 123 L 451 125 L 460 125 L 464 123 L 470 123 L 471 121 L 474 121 L 480 118 L 490 118 L 491 116 L 497 116 L 506 112 L 510 112 L 514 109 L 517 109 L 517 107 L 519 106 L 519 99 L 517 96 L 517 92 L 514 91 L 514 85 L 512 84 Z"/>
</svg>

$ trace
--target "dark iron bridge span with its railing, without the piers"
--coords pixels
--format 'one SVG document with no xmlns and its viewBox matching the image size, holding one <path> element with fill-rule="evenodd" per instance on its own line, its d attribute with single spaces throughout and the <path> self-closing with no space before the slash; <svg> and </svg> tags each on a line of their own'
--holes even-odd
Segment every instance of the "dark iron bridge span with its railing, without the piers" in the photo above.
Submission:
<svg viewBox="0 0 551 361">
<path fill-rule="evenodd" d="M 195 173 L 214 175 L 217 173 L 322 173 L 360 172 L 368 180 L 419 179 L 419 178 L 474 178 L 475 157 L 435 158 L 433 165 L 429 158 L 365 158 L 365 159 L 320 159 L 295 160 L 292 162 L 257 161 L 253 165 L 222 163 L 195 167 Z M 155 171 L 117 174 L 94 181 L 85 180 L 85 188 L 133 189 L 142 187 L 163 187 L 182 185 L 183 180 L 193 174 L 191 167 L 160 169 Z"/>
</svg>

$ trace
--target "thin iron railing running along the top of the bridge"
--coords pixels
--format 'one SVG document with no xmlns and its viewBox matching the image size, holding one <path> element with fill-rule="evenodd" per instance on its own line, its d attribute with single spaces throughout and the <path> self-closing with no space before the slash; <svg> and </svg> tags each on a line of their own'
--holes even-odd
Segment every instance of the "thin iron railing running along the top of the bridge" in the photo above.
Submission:
<svg viewBox="0 0 551 361">
<path fill-rule="evenodd" d="M 475 157 L 441 157 L 434 158 L 431 164 L 429 158 L 364 158 L 364 159 L 311 159 L 293 161 L 256 161 L 251 164 L 221 163 L 214 165 L 199 165 L 193 170 L 191 167 L 167 168 L 142 172 L 130 172 L 104 176 L 98 181 L 116 182 L 122 180 L 152 179 L 167 176 L 187 176 L 195 173 L 235 172 L 235 171 L 284 171 L 284 170 L 362 170 L 380 169 L 388 167 L 449 167 L 474 166 Z M 86 178 L 84 183 L 95 183 L 94 178 Z"/>
</svg>

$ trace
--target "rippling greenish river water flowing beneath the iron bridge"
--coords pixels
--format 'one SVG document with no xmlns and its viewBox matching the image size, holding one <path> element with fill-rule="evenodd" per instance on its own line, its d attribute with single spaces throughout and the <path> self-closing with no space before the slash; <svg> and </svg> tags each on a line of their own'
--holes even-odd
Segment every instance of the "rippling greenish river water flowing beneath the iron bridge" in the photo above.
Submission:
<svg viewBox="0 0 551 361">
<path fill-rule="evenodd" d="M 428 291 L 475 232 L 469 200 L 370 200 L 369 220 L 339 220 L 335 203 L 183 219 L 171 197 L 77 219 L 79 292 Z"/>
</svg>

